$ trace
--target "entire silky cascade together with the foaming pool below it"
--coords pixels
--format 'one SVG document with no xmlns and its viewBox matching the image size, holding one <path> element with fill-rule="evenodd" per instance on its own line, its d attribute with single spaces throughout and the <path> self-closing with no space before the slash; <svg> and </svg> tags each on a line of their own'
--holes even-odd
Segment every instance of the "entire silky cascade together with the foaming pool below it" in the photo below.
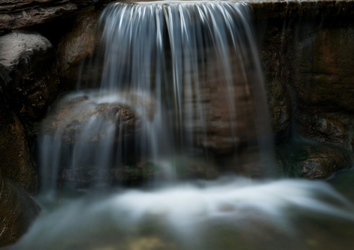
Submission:
<svg viewBox="0 0 354 250">
<path fill-rule="evenodd" d="M 229 1 L 107 6 L 87 83 L 100 88 L 44 120 L 44 211 L 10 249 L 351 249 L 350 201 L 323 181 L 271 179 L 249 15 Z"/>
</svg>

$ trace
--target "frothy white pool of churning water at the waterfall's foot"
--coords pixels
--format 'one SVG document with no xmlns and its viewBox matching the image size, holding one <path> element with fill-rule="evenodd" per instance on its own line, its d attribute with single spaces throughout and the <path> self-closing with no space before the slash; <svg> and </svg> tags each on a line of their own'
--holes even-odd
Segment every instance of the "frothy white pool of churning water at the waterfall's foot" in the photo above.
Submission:
<svg viewBox="0 0 354 250">
<path fill-rule="evenodd" d="M 321 181 L 224 178 L 63 202 L 10 249 L 312 249 L 308 237 L 345 249 L 354 224 L 353 205 Z"/>
</svg>

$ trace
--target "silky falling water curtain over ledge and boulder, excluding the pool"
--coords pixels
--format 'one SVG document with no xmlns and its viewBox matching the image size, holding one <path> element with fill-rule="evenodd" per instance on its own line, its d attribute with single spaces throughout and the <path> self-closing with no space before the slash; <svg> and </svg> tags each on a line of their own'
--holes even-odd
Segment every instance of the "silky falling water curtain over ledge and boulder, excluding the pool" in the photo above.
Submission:
<svg viewBox="0 0 354 250">
<path fill-rule="evenodd" d="M 98 29 L 103 67 L 92 79 L 100 88 L 65 97 L 57 107 L 69 111 L 44 121 L 44 189 L 62 169 L 99 180 L 129 164 L 156 165 L 173 181 L 176 159 L 186 157 L 228 158 L 226 168 L 248 176 L 274 173 L 249 16 L 245 3 L 228 1 L 108 5 Z M 134 124 L 122 122 L 124 112 Z"/>
</svg>

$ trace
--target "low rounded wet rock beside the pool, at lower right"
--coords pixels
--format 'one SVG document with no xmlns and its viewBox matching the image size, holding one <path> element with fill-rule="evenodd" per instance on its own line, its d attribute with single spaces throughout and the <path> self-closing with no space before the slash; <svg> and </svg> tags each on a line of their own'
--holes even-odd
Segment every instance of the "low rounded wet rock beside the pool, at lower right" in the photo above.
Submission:
<svg viewBox="0 0 354 250">
<path fill-rule="evenodd" d="M 300 162 L 302 176 L 305 178 L 328 178 L 337 170 L 351 167 L 348 152 L 319 146 L 305 146 L 307 158 Z"/>
</svg>

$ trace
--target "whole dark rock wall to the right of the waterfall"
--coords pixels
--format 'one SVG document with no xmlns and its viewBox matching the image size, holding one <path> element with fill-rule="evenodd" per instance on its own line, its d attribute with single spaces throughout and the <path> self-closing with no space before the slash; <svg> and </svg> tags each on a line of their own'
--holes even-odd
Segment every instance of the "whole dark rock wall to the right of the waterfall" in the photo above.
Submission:
<svg viewBox="0 0 354 250">
<path fill-rule="evenodd" d="M 324 2 L 282 4 L 288 12 L 269 19 L 262 40 L 273 132 L 280 148 L 296 138 L 282 153 L 285 167 L 296 162 L 301 176 L 327 178 L 353 165 L 354 30 L 347 21 L 353 4 L 331 2 L 331 13 Z M 298 143 L 301 150 L 294 149 Z M 302 153 L 292 158 L 294 151 Z"/>
</svg>

